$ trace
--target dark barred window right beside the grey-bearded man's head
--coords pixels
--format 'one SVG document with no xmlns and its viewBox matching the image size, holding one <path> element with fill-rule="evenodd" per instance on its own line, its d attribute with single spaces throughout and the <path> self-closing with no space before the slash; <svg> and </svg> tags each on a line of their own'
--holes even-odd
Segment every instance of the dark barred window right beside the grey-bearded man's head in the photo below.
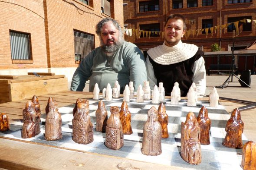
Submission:
<svg viewBox="0 0 256 170">
<path fill-rule="evenodd" d="M 75 61 L 82 61 L 94 47 L 94 35 L 74 30 Z"/>
</svg>

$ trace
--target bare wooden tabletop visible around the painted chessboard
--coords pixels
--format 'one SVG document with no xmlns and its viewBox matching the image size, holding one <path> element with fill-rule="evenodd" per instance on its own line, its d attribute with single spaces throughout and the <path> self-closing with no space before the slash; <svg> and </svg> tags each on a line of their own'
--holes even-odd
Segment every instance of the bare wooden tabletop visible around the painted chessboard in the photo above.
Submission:
<svg viewBox="0 0 256 170">
<path fill-rule="evenodd" d="M 77 98 L 92 98 L 92 93 L 61 91 L 51 94 L 38 96 L 42 113 L 45 114 L 45 107 L 49 97 L 58 101 L 58 107 L 66 107 L 74 104 Z M 10 123 L 22 120 L 22 110 L 25 103 L 31 100 L 26 98 L 17 102 L 7 102 L 0 104 L 0 113 L 7 113 Z M 199 100 L 208 100 L 202 98 Z M 231 112 L 236 107 L 242 107 L 245 104 L 220 101 L 227 112 Z M 248 140 L 256 142 L 256 109 L 241 112 L 242 120 L 245 124 L 243 134 Z M 118 169 L 117 165 L 121 162 L 129 162 L 132 167 L 139 169 L 187 169 L 184 167 L 167 166 L 144 161 L 136 161 L 115 155 L 97 154 L 79 149 L 70 149 L 62 146 L 47 145 L 33 141 L 23 141 L 0 136 L 0 167 L 6 169 Z M 81 144 L 77 144 L 81 145 Z M 194 168 L 196 168 L 194 166 Z"/>
</svg>

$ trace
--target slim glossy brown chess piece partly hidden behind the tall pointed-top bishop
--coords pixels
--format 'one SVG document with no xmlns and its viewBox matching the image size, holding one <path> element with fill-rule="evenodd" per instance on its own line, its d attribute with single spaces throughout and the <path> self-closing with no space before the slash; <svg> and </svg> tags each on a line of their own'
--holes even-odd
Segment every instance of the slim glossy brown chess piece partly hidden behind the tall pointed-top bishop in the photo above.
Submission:
<svg viewBox="0 0 256 170">
<path fill-rule="evenodd" d="M 158 107 L 158 122 L 161 124 L 162 127 L 162 138 L 168 138 L 168 115 L 166 114 L 166 109 L 163 103 L 159 104 Z"/>
</svg>

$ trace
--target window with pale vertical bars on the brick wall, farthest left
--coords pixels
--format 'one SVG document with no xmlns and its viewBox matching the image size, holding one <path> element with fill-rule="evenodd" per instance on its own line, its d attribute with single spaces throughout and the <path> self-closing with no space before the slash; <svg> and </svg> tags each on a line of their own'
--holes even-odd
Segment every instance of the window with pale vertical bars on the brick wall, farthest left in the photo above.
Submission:
<svg viewBox="0 0 256 170">
<path fill-rule="evenodd" d="M 10 31 L 12 60 L 31 60 L 30 34 Z"/>
</svg>

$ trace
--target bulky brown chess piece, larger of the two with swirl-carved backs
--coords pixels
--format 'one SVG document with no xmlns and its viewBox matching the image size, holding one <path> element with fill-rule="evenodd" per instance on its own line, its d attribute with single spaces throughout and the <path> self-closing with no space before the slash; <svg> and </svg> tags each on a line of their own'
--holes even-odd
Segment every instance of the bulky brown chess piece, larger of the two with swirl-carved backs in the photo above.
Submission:
<svg viewBox="0 0 256 170">
<path fill-rule="evenodd" d="M 82 144 L 89 144 L 93 141 L 93 125 L 89 115 L 89 101 L 80 100 L 77 102 L 73 126 L 73 141 Z"/>
</svg>

